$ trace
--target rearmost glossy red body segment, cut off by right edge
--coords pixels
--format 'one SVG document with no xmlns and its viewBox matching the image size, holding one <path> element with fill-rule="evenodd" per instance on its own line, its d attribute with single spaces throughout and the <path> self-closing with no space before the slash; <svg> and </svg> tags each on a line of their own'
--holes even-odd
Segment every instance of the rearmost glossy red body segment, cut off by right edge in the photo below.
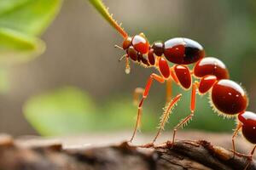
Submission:
<svg viewBox="0 0 256 170">
<path fill-rule="evenodd" d="M 244 111 L 238 115 L 241 122 L 241 132 L 251 143 L 256 144 L 256 114 L 251 111 Z"/>
</svg>

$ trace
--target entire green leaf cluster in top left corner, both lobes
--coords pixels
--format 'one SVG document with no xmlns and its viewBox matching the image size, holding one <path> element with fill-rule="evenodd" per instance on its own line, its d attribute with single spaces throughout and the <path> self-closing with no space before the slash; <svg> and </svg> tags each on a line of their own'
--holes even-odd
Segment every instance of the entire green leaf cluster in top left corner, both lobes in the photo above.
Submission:
<svg viewBox="0 0 256 170">
<path fill-rule="evenodd" d="M 61 0 L 0 1 L 0 65 L 20 63 L 44 52 L 38 36 L 54 20 Z"/>
</svg>

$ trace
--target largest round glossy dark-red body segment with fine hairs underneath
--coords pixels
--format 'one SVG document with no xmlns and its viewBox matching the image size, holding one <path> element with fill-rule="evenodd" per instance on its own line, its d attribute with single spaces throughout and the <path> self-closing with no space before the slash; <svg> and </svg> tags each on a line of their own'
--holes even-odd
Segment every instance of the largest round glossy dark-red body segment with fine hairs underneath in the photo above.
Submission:
<svg viewBox="0 0 256 170">
<path fill-rule="evenodd" d="M 231 80 L 215 82 L 211 95 L 212 104 L 220 113 L 234 116 L 247 108 L 247 94 L 239 84 Z"/>
</svg>

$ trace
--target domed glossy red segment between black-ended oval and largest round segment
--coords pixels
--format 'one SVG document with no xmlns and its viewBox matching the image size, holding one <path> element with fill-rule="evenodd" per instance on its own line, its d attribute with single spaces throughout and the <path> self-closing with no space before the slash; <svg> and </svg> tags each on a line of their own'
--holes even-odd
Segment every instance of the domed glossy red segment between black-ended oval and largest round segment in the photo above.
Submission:
<svg viewBox="0 0 256 170">
<path fill-rule="evenodd" d="M 218 80 L 229 79 L 230 77 L 224 63 L 213 57 L 207 57 L 198 61 L 194 67 L 194 75 L 195 77 L 214 75 Z"/>
</svg>

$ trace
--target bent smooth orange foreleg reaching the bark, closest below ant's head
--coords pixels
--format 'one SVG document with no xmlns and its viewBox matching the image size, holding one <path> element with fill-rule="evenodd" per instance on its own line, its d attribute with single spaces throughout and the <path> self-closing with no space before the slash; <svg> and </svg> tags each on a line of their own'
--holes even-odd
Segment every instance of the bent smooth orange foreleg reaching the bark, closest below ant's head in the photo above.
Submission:
<svg viewBox="0 0 256 170">
<path fill-rule="evenodd" d="M 138 105 L 138 108 L 137 108 L 137 122 L 134 127 L 134 131 L 132 133 L 130 142 L 132 142 L 132 140 L 134 139 L 134 137 L 136 135 L 137 127 L 138 127 L 138 124 L 139 124 L 139 122 L 141 120 L 141 116 L 142 116 L 143 101 L 144 101 L 144 99 L 146 99 L 148 97 L 148 92 L 149 92 L 149 89 L 151 88 L 153 80 L 156 80 L 157 82 L 165 82 L 165 79 L 163 77 L 160 77 L 159 75 L 154 74 L 154 73 L 151 74 L 150 77 L 148 78 L 148 82 L 147 82 L 147 84 L 145 86 L 145 90 L 143 92 L 143 99 L 141 99 L 141 101 Z"/>
</svg>

